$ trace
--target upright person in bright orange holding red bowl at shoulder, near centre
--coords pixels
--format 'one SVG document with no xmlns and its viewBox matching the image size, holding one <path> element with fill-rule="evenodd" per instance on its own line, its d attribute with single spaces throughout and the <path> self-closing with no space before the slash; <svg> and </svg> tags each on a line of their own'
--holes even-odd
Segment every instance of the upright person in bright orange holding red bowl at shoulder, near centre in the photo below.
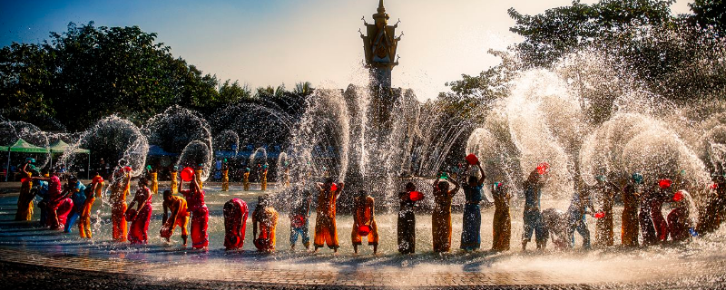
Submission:
<svg viewBox="0 0 726 290">
<path fill-rule="evenodd" d="M 336 227 L 336 202 L 343 191 L 345 184 L 333 183 L 333 179 L 326 179 L 325 183 L 316 183 L 320 191 L 318 195 L 317 217 L 315 220 L 315 238 L 313 246 L 315 252 L 320 247 L 328 245 L 333 252 L 338 252 L 338 228 Z"/>
</svg>

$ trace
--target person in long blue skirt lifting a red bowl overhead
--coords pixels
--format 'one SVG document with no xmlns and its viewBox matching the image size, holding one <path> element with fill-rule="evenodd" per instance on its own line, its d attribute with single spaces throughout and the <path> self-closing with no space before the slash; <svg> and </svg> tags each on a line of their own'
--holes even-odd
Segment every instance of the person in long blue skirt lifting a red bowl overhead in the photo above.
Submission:
<svg viewBox="0 0 726 290">
<path fill-rule="evenodd" d="M 463 172 L 468 172 L 469 166 L 471 165 L 467 163 Z M 481 208 L 479 208 L 479 202 L 482 201 L 485 174 L 480 162 L 476 162 L 476 167 L 479 168 L 481 178 L 476 179 L 476 176 L 470 176 L 463 187 L 466 204 L 464 205 L 460 248 L 467 252 L 478 249 L 482 243 L 482 212 Z"/>
</svg>

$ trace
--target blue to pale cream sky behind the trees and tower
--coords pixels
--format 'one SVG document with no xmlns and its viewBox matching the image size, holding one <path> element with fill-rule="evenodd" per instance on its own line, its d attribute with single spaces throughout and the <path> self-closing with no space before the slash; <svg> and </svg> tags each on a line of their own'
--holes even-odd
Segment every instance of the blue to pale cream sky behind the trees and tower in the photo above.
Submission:
<svg viewBox="0 0 726 290">
<path fill-rule="evenodd" d="M 583 0 L 592 4 L 595 0 Z M 499 63 L 489 49 L 505 50 L 521 41 L 508 31 L 514 21 L 506 10 L 540 14 L 571 5 L 571 0 L 388 0 L 387 13 L 397 33 L 399 65 L 393 86 L 411 88 L 421 101 L 448 92 L 445 83 L 462 73 L 478 74 Z M 679 0 L 673 14 L 689 13 Z M 368 82 L 362 68 L 358 29 L 368 23 L 377 0 L 264 1 L 35 1 L 0 0 L 0 46 L 42 43 L 70 22 L 95 26 L 138 25 L 157 33 L 204 73 L 254 89 L 312 82 L 314 87 L 344 89 Z"/>
</svg>

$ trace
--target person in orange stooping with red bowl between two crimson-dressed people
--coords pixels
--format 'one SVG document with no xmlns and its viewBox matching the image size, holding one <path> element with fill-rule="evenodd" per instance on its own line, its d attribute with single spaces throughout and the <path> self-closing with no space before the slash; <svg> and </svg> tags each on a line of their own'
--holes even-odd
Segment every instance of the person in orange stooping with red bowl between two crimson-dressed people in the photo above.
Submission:
<svg viewBox="0 0 726 290">
<path fill-rule="evenodd" d="M 159 231 L 160 236 L 166 239 L 166 242 L 171 242 L 172 235 L 174 234 L 174 228 L 182 228 L 182 241 L 183 246 L 187 247 L 187 237 L 189 237 L 189 211 L 187 210 L 186 199 L 172 195 L 172 190 L 164 190 L 164 202 L 162 207 L 164 208 L 164 215 L 162 217 L 162 229 Z M 169 213 L 171 212 L 171 217 Z"/>
</svg>

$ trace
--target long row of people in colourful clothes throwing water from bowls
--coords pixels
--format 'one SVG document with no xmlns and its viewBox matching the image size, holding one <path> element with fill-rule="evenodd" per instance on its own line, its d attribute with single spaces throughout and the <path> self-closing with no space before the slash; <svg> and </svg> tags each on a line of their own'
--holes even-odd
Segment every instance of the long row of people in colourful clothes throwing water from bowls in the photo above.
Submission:
<svg viewBox="0 0 726 290">
<path fill-rule="evenodd" d="M 75 177 L 70 177 L 62 184 L 59 173 L 53 169 L 44 171 L 41 176 L 33 166 L 34 160 L 27 159 L 22 167 L 24 178 L 21 180 L 20 195 L 17 201 L 16 220 L 31 220 L 34 212 L 34 198 L 41 198 L 38 208 L 41 210 L 40 222 L 45 227 L 63 229 L 72 232 L 75 224 L 79 234 L 84 238 L 92 238 L 91 208 L 96 198 L 101 198 L 106 183 L 102 176 L 96 174 L 90 183 L 84 185 Z M 225 162 L 226 163 L 226 162 Z M 467 162 L 461 180 L 449 174 L 441 174 L 431 189 L 434 208 L 431 211 L 431 243 L 434 252 L 451 251 L 452 246 L 452 199 L 459 189 L 463 189 L 466 203 L 463 208 L 462 233 L 460 249 L 476 251 L 481 248 L 482 218 L 480 204 L 486 198 L 483 190 L 486 184 L 484 169 L 478 160 Z M 471 171 L 470 167 L 476 170 Z M 222 166 L 222 190 L 229 190 L 227 169 Z M 187 170 L 187 169 L 184 169 Z M 207 208 L 202 185 L 203 167 L 200 165 L 189 169 L 188 179 L 184 172 L 173 169 L 171 187 L 162 193 L 163 218 L 160 237 L 171 241 L 176 227 L 181 227 L 183 245 L 186 247 L 191 233 L 191 247 L 206 249 L 210 245 L 208 224 L 210 211 Z M 182 170 L 183 171 L 183 170 Z M 265 170 L 266 172 L 266 170 Z M 144 174 L 137 179 L 137 189 L 129 204 L 127 197 L 131 193 L 132 168 L 124 167 L 113 172 L 113 181 L 108 185 L 111 204 L 111 220 L 113 224 L 113 240 L 128 241 L 132 244 L 146 244 L 149 240 L 149 225 L 152 218 L 152 198 L 158 194 L 159 182 L 156 170 L 147 167 Z M 710 195 L 703 198 L 704 206 L 698 213 L 692 212 L 692 198 L 682 189 L 682 180 L 662 178 L 645 180 L 643 175 L 633 173 L 620 185 L 606 178 L 605 172 L 595 177 L 594 186 L 582 186 L 575 190 L 569 208 L 566 211 L 557 208 L 541 207 L 542 189 L 547 184 L 550 166 L 542 162 L 533 169 L 523 184 L 524 189 L 524 231 L 522 249 L 535 236 L 535 247 L 543 249 L 548 241 L 552 241 L 558 249 L 574 247 L 574 233 L 582 237 L 583 247 L 591 247 L 590 230 L 586 217 L 596 218 L 595 242 L 597 247 L 612 247 L 614 244 L 613 204 L 617 197 L 623 201 L 622 237 L 623 247 L 652 246 L 659 243 L 683 241 L 699 234 L 716 230 L 726 209 L 726 178 L 722 175 L 713 177 Z M 182 177 L 181 179 L 178 177 Z M 260 180 L 263 181 L 264 179 Z M 187 183 L 185 189 L 185 182 Z M 511 241 L 510 189 L 501 180 L 490 180 L 491 193 L 495 213 L 493 218 L 493 251 L 507 251 Z M 249 181 L 243 182 L 245 190 L 249 190 Z M 264 190 L 265 184 L 262 184 Z M 312 190 L 310 190 L 312 189 Z M 289 245 L 295 249 L 299 239 L 304 247 L 310 250 L 309 218 L 315 208 L 313 251 L 322 247 L 338 251 L 337 204 L 343 193 L 345 184 L 326 179 L 324 182 L 310 183 L 310 187 L 292 189 L 289 200 L 290 236 Z M 313 190 L 317 190 L 317 200 L 313 204 Z M 355 253 L 366 239 L 373 253 L 378 252 L 378 226 L 376 224 L 376 200 L 365 190 L 354 193 L 353 227 L 350 241 Z M 418 204 L 427 195 L 417 190 L 414 183 L 408 182 L 405 190 L 398 194 L 400 208 L 397 216 L 397 249 L 400 253 L 416 252 L 416 214 Z M 276 248 L 276 228 L 280 213 L 274 208 L 273 196 L 260 196 L 256 207 L 251 213 L 252 242 L 263 252 L 271 252 Z M 594 202 L 595 201 L 595 202 Z M 672 211 L 662 215 L 662 206 L 672 203 Z M 595 206 L 595 204 L 597 206 Z M 697 222 L 692 222 L 696 220 Z M 244 246 L 249 208 L 240 198 L 232 198 L 224 204 L 224 247 L 230 250 Z M 128 228 L 127 228 L 128 226 Z M 188 230 L 189 228 L 189 230 Z M 642 238 L 641 238 L 642 237 Z"/>
</svg>

